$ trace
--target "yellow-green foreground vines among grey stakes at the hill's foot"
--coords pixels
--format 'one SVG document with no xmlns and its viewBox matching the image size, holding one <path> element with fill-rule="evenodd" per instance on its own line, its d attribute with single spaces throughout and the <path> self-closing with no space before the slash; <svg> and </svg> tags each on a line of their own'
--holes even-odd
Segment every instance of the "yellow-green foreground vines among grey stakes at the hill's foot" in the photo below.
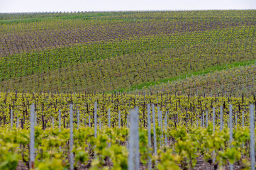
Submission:
<svg viewBox="0 0 256 170">
<path fill-rule="evenodd" d="M 150 152 L 150 148 L 145 147 L 148 145 L 148 123 L 150 123 L 150 126 L 152 125 L 151 128 L 154 126 L 153 123 L 151 124 L 151 121 L 148 122 L 148 113 L 150 113 L 150 120 L 155 119 L 153 122 L 155 122 L 157 144 L 154 145 L 154 149 L 155 147 L 158 149 L 155 155 L 158 156 L 152 157 L 152 161 L 155 160 L 155 163 L 153 162 L 155 168 L 163 166 L 165 169 L 165 166 L 167 166 L 165 164 L 172 164 L 172 169 L 176 169 L 178 164 L 183 164 L 181 166 L 182 169 L 189 168 L 189 166 L 194 167 L 197 165 L 196 160 L 199 158 L 210 159 L 213 150 L 216 151 L 216 160 L 218 159 L 219 164 L 225 165 L 227 160 L 232 160 L 232 162 L 240 162 L 238 164 L 244 164 L 243 166 L 245 166 L 245 162 L 250 160 L 246 156 L 250 140 L 250 132 L 248 131 L 248 127 L 250 127 L 250 112 L 248 103 L 255 102 L 255 97 L 2 93 L 1 100 L 1 103 L 5 103 L 1 106 L 1 115 L 3 115 L 1 117 L 1 142 L 2 144 L 6 142 L 10 144 L 10 146 L 7 145 L 8 147 L 3 149 L 10 149 L 12 154 L 16 155 L 15 160 L 9 160 L 10 162 L 15 161 L 16 164 L 18 164 L 18 160 L 21 157 L 24 164 L 28 164 L 30 102 L 35 103 L 35 155 L 37 155 L 35 158 L 41 160 L 41 163 L 38 162 L 36 166 L 40 166 L 42 162 L 48 162 L 52 158 L 49 164 L 66 162 L 62 166 L 69 166 L 67 159 L 69 157 L 69 147 L 61 147 L 68 144 L 70 137 L 70 106 L 68 103 L 74 103 L 74 118 L 72 120 L 72 123 L 74 122 L 73 152 L 76 155 L 75 166 L 81 168 L 91 166 L 90 168 L 92 169 L 101 169 L 110 162 L 110 160 L 106 162 L 107 157 L 108 159 L 111 158 L 113 169 L 118 167 L 125 169 L 128 166 L 128 117 L 130 109 L 134 107 L 140 108 L 138 125 L 140 127 L 141 166 L 146 167 L 148 165 L 148 152 Z M 147 105 L 146 103 L 150 104 Z M 152 108 L 154 107 L 153 105 L 155 108 Z M 152 107 L 150 108 L 149 106 Z M 235 144 L 233 149 L 228 147 L 230 106 L 233 106 L 231 111 L 233 111 L 233 126 L 235 129 L 233 133 L 233 143 Z M 155 115 L 152 115 L 153 113 Z M 97 133 L 99 133 L 96 138 L 94 137 L 95 125 Z M 220 130 L 221 125 L 222 130 Z M 182 134 L 184 136 L 181 136 Z M 186 148 L 183 146 L 185 141 Z M 211 142 L 213 143 L 211 144 Z M 115 145 L 116 143 L 119 143 L 119 145 Z M 242 147 L 243 143 L 247 145 Z M 22 144 L 23 147 L 15 149 L 18 144 Z M 108 148 L 107 146 L 109 145 L 111 147 Z M 190 145 L 193 148 L 190 148 Z M 84 147 L 86 148 L 85 150 L 82 149 Z M 101 150 L 100 148 L 106 148 L 106 150 Z M 174 150 L 177 152 L 179 149 L 183 153 L 174 154 Z M 198 149 L 200 152 L 196 152 Z M 52 152 L 48 152 L 48 150 Z M 4 150 L 2 150 L 2 153 L 4 153 Z M 4 154 L 4 157 L 9 157 L 9 154 L 7 152 L 7 154 Z M 190 160 L 187 159 L 188 154 L 191 154 Z M 65 157 L 61 157 L 61 155 L 64 155 L 66 159 L 63 159 Z M 114 162 L 117 159 L 116 157 L 120 157 L 119 159 L 121 160 Z M 191 164 L 186 163 L 188 160 Z M 41 166 L 53 165 L 44 164 Z"/>
</svg>

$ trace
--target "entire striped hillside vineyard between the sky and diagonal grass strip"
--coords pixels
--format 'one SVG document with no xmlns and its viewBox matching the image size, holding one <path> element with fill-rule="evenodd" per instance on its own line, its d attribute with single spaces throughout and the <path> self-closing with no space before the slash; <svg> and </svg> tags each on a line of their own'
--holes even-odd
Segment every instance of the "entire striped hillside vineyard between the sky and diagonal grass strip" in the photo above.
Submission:
<svg viewBox="0 0 256 170">
<path fill-rule="evenodd" d="M 13 81 L 17 85 L 11 89 L 19 91 L 113 91 L 174 77 L 174 74 L 188 74 L 210 65 L 252 60 L 255 55 L 254 12 L 225 11 L 226 17 L 219 11 L 208 11 L 204 16 L 201 14 L 205 11 L 115 13 L 113 16 L 105 13 L 107 16 L 89 21 L 67 18 L 2 23 L 1 85 L 5 89 L 5 84 Z M 154 66 L 160 66 L 162 60 L 148 58 L 154 52 L 166 62 L 162 69 Z M 133 60 L 135 65 L 148 67 L 148 63 L 143 63 L 145 60 L 138 61 L 138 55 L 147 59 L 153 68 L 138 69 L 130 74 L 127 65 L 122 64 L 120 68 L 125 70 L 109 67 L 108 63 L 120 65 L 116 57 L 127 58 L 121 61 L 125 64 Z M 223 61 L 223 57 L 228 59 Z M 108 76 L 91 66 L 102 59 L 102 70 L 109 70 Z M 199 66 L 202 60 L 204 65 Z M 167 69 L 169 67 L 173 70 Z M 77 69 L 78 77 L 74 71 Z M 61 74 L 70 76 L 62 78 Z M 133 79 L 126 77 L 127 74 Z M 96 82 L 99 80 L 100 83 Z M 49 82 L 52 85 L 49 86 Z"/>
</svg>

